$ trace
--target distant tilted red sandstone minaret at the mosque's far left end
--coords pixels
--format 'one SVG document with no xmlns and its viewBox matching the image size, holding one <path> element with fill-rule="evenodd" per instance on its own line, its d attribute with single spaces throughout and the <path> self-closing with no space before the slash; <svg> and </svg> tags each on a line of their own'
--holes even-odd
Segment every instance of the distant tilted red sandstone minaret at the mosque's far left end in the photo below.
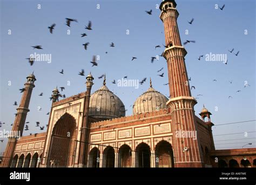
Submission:
<svg viewBox="0 0 256 185">
<path fill-rule="evenodd" d="M 35 87 L 34 83 L 36 81 L 35 75 L 30 74 L 26 77 L 27 81 L 24 84 L 24 92 L 22 95 L 21 103 L 17 108 L 17 115 L 15 117 L 14 124 L 12 126 L 12 134 L 9 136 L 9 141 L 7 143 L 4 157 L 3 157 L 3 167 L 10 167 L 12 162 L 12 157 L 14 155 L 16 143 L 17 143 L 17 136 L 22 136 L 25 121 L 26 121 L 26 114 L 29 112 L 29 102 L 32 94 L 32 90 Z"/>
</svg>

